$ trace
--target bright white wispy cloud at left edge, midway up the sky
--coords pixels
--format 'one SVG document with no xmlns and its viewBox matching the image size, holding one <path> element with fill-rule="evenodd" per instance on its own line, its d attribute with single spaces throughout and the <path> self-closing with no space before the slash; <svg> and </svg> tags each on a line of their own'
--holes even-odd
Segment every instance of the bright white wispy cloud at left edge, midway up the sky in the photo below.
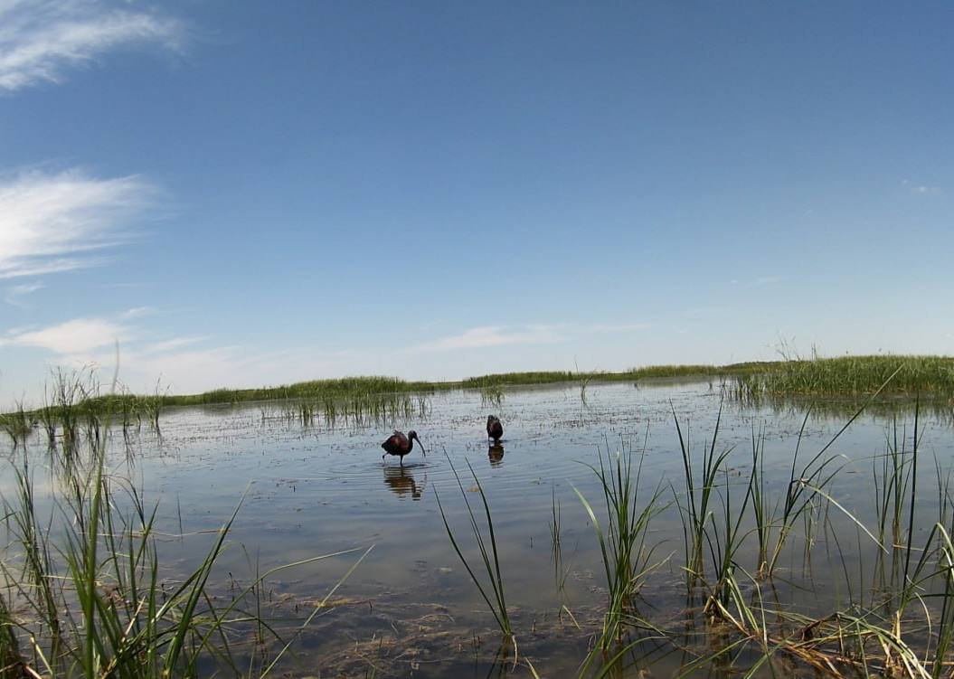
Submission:
<svg viewBox="0 0 954 679">
<path fill-rule="evenodd" d="M 128 220 L 156 190 L 136 176 L 94 179 L 73 170 L 0 177 L 0 278 L 96 266 L 133 237 Z"/>
</svg>

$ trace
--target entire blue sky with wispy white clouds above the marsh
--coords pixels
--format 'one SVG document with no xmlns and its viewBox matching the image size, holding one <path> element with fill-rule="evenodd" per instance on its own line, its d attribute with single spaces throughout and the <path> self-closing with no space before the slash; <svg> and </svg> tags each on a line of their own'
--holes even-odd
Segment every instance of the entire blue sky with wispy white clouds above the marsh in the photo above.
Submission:
<svg viewBox="0 0 954 679">
<path fill-rule="evenodd" d="M 0 0 L 0 402 L 954 353 L 952 27 Z"/>
</svg>

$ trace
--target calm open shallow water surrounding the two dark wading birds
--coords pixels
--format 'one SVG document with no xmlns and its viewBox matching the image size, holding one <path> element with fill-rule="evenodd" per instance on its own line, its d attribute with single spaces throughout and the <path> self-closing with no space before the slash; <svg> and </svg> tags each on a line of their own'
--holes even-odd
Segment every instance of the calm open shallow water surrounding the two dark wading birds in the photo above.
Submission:
<svg viewBox="0 0 954 679">
<path fill-rule="evenodd" d="M 574 492 L 600 511 L 601 486 L 587 465 L 598 465 L 601 450 L 645 450 L 640 492 L 648 497 L 661 487 L 663 502 L 671 503 L 684 483 L 674 414 L 684 434 L 688 428 L 695 454 L 701 455 L 711 442 L 720 407 L 724 412 L 716 447 L 735 446 L 727 483 L 747 481 L 753 430 L 764 427 L 766 484 L 773 497 L 783 495 L 804 412 L 723 403 L 718 388 L 704 382 L 639 388 L 591 384 L 585 402 L 575 385 L 510 390 L 502 405 L 492 409 L 479 393 L 455 391 L 430 397 L 425 417 L 371 426 L 321 421 L 302 426 L 275 404 L 171 410 L 163 414 L 161 437 L 143 430 L 130 455 L 116 437 L 110 473 L 132 480 L 147 503 L 159 503 L 159 529 L 170 536 L 160 544 L 169 578 L 201 562 L 214 537 L 209 531 L 222 525 L 246 490 L 230 548 L 218 562 L 223 591 L 231 583 L 248 582 L 256 570 L 373 545 L 337 590 L 336 606 L 299 639 L 295 657 L 282 668 L 290 673 L 318 675 L 321 667 L 321 676 L 365 676 L 374 667 L 378 676 L 529 675 L 523 665 L 514 668 L 495 660 L 499 633 L 451 548 L 438 509 L 440 495 L 465 555 L 479 565 L 473 561 L 479 557 L 464 504 L 467 496 L 478 515 L 482 512 L 469 464 L 492 512 L 520 654 L 542 676 L 570 676 L 586 655 L 606 604 L 595 533 Z M 485 437 L 490 412 L 505 426 L 496 448 L 488 447 Z M 809 418 L 799 458 L 807 461 L 844 422 L 824 415 Z M 862 415 L 829 450 L 843 456 L 845 464 L 832 495 L 847 511 L 866 517 L 862 523 L 872 519 L 872 461 L 884 452 L 889 423 L 881 416 Z M 931 416 L 922 424 L 923 450 L 947 468 L 954 453 L 949 423 Z M 416 429 L 426 456 L 415 447 L 403 466 L 396 458 L 383 462 L 380 442 L 395 427 Z M 909 420 L 906 434 L 910 438 Z M 44 447 L 39 438 L 34 436 L 31 444 L 36 458 Z M 463 495 L 451 463 L 460 474 Z M 923 467 L 924 474 L 934 473 L 933 460 Z M 49 489 L 52 483 L 41 468 L 39 487 Z M 7 472 L 0 474 L 0 491 L 10 492 Z M 558 559 L 550 534 L 554 498 L 561 514 Z M 936 495 L 925 493 L 919 502 L 926 516 L 936 516 Z M 845 531 L 850 545 L 842 546 L 851 547 L 846 548 L 850 553 L 836 560 L 829 553 L 828 562 L 817 562 L 811 595 L 789 592 L 805 610 L 827 610 L 843 596 L 841 580 L 854 576 L 842 578 L 833 564 L 847 573 L 875 549 L 839 511 L 832 512 L 831 528 Z M 173 537 L 179 533 L 184 537 Z M 686 606 L 678 567 L 682 528 L 674 506 L 653 521 L 653 538 L 659 554 L 674 555 L 644 591 L 647 614 L 666 624 L 683 615 Z M 744 567 L 754 567 L 753 550 L 750 541 L 737 555 Z M 321 600 L 360 553 L 269 578 L 270 611 L 288 629 L 301 624 L 308 605 Z M 803 555 L 799 549 L 786 551 L 784 569 L 803 572 Z M 663 648 L 646 663 L 653 676 L 668 676 L 683 660 Z M 637 676 L 636 671 L 629 673 Z"/>
</svg>

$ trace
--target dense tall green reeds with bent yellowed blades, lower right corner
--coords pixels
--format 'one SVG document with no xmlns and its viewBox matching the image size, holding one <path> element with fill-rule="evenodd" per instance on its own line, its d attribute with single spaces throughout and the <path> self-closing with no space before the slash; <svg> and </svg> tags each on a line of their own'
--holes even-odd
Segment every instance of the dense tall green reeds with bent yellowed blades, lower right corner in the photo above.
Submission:
<svg viewBox="0 0 954 679">
<path fill-rule="evenodd" d="M 699 488 L 692 481 L 693 465 L 687 463 L 687 498 L 695 494 L 698 500 L 694 503 L 687 499 L 680 504 L 686 517 L 686 563 L 694 565 L 689 567 L 691 581 L 704 594 L 701 610 L 708 621 L 707 636 L 716 630 L 726 636 L 718 650 L 699 653 L 679 676 L 726 662 L 731 673 L 787 676 L 791 669 L 777 667 L 783 658 L 794 658 L 806 669 L 828 676 L 949 675 L 949 651 L 954 638 L 949 597 L 954 590 L 945 525 L 951 525 L 954 512 L 950 512 L 949 503 L 944 504 L 948 512 L 944 520 L 934 525 L 923 543 L 917 544 L 917 417 L 915 421 L 911 447 L 889 447 L 885 458 L 875 467 L 875 500 L 880 507 L 877 523 L 881 526 L 875 531 L 863 525 L 858 515 L 834 497 L 830 486 L 839 469 L 832 465 L 833 457 L 824 457 L 830 443 L 805 465 L 804 475 L 793 471 L 795 483 L 789 484 L 788 493 L 781 499 L 783 509 L 779 509 L 781 503 L 767 502 L 765 493 L 771 492 L 771 486 L 764 484 L 760 476 L 763 439 L 755 431 L 748 484 L 736 484 L 734 489 L 727 473 L 728 457 L 707 452 L 702 459 L 703 488 Z M 709 451 L 714 447 L 709 446 Z M 688 454 L 685 458 L 692 460 Z M 793 470 L 796 464 L 793 461 Z M 940 473 L 938 483 L 939 487 L 948 487 Z M 721 498 L 712 507 L 702 499 L 709 484 L 712 496 Z M 799 495 L 798 488 L 805 494 Z M 734 493 L 736 504 L 729 500 Z M 747 512 L 751 516 L 746 516 Z M 852 531 L 846 531 L 843 522 L 836 525 L 836 515 L 843 516 L 847 525 L 855 526 L 860 541 L 857 551 L 849 554 L 844 550 L 847 545 L 842 543 L 851 539 Z M 826 540 L 832 547 L 831 564 L 836 566 L 831 577 L 843 573 L 847 600 L 833 602 L 835 609 L 828 613 L 799 612 L 792 602 L 778 600 L 776 587 L 794 584 L 791 574 L 776 580 L 773 565 L 777 556 L 769 555 L 777 555 L 778 545 L 794 537 L 797 518 L 807 524 L 824 523 Z M 773 533 L 778 540 L 775 552 L 765 548 Z M 806 530 L 801 537 L 802 548 L 810 550 L 810 532 Z M 862 540 L 871 540 L 876 547 L 875 560 L 867 567 L 861 560 Z M 746 548 L 753 541 L 758 548 Z M 708 564 L 698 557 L 699 543 L 704 543 L 709 553 Z M 755 556 L 755 560 L 749 555 Z M 857 574 L 851 572 L 852 565 Z M 763 592 L 763 588 L 767 591 Z M 810 574 L 809 581 L 797 589 L 812 591 Z M 689 609 L 693 609 L 691 605 Z"/>
</svg>

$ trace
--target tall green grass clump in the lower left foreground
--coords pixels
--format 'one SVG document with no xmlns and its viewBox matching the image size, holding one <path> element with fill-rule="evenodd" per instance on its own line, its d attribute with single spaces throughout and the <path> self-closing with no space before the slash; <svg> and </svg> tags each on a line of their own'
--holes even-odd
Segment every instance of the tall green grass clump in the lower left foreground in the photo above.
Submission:
<svg viewBox="0 0 954 679">
<path fill-rule="evenodd" d="M 18 456 L 14 492 L 2 499 L 7 541 L 0 552 L 0 676 L 269 674 L 291 640 L 263 617 L 260 583 L 281 570 L 357 550 L 273 568 L 222 598 L 217 564 L 239 500 L 199 566 L 168 579 L 156 544 L 158 504 L 147 506 L 134 485 L 112 479 L 106 451 L 105 439 L 74 446 L 57 467 L 52 501 L 42 508 L 29 452 Z M 253 630 L 258 646 L 250 650 Z"/>
</svg>

